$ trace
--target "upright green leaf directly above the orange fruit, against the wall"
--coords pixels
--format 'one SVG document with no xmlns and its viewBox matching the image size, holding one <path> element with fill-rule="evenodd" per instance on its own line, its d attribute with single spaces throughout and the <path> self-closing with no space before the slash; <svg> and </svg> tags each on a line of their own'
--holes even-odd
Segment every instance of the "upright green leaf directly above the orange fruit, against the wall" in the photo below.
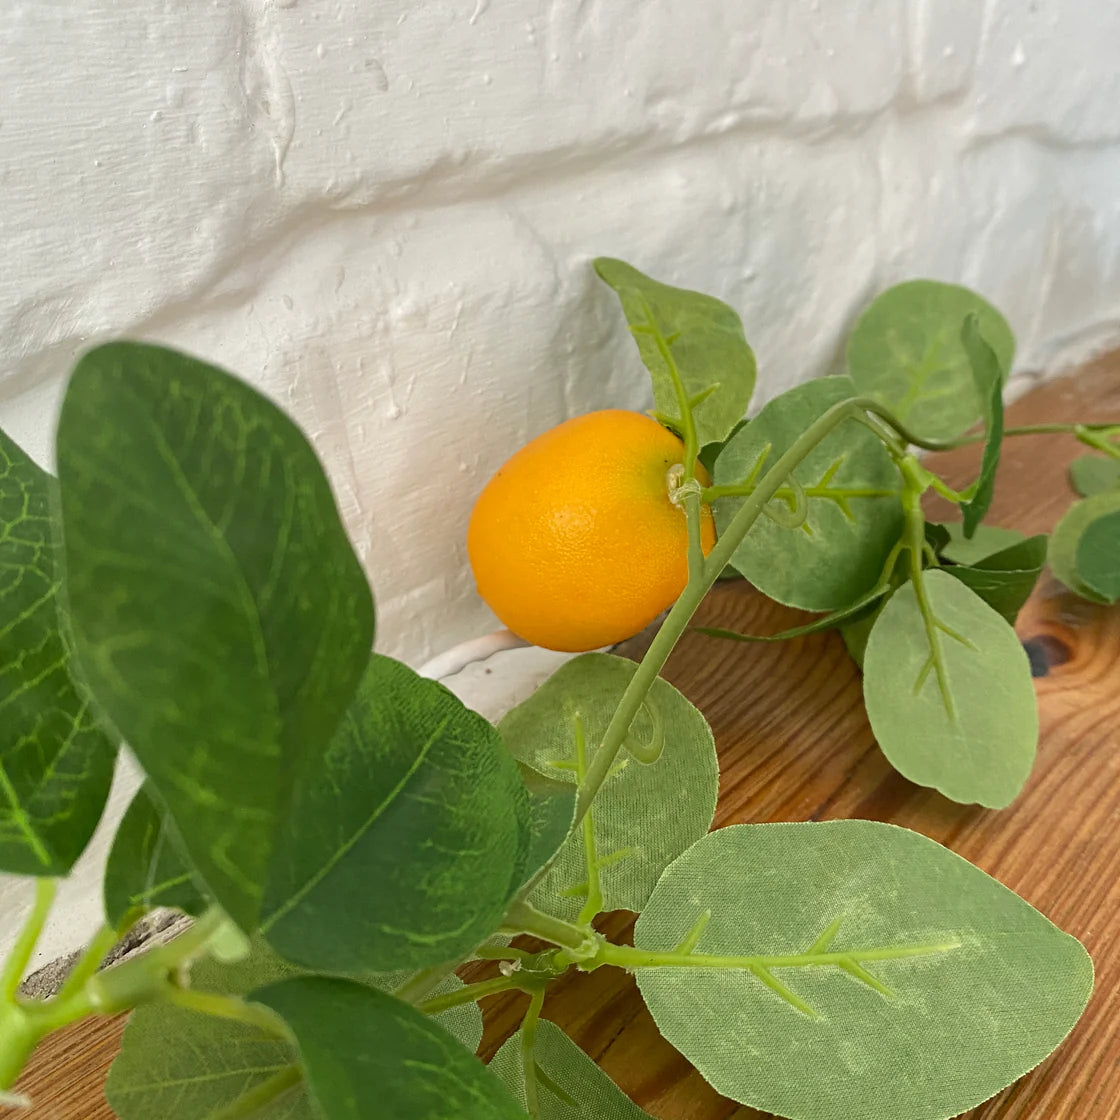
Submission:
<svg viewBox="0 0 1120 1120">
<path fill-rule="evenodd" d="M 618 296 L 653 380 L 656 411 L 681 430 L 674 377 L 690 400 L 700 444 L 724 440 L 746 414 L 755 389 L 755 355 L 727 304 L 651 280 L 624 261 L 600 256 L 598 272 Z"/>
</svg>

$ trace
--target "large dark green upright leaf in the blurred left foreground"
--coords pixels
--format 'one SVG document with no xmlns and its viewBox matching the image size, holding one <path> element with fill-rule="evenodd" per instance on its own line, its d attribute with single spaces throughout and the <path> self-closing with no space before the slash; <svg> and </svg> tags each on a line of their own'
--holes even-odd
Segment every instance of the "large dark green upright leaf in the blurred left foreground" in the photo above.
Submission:
<svg viewBox="0 0 1120 1120">
<path fill-rule="evenodd" d="M 292 787 L 319 772 L 373 635 L 323 468 L 248 385 L 114 343 L 71 379 L 58 474 L 83 673 L 250 931 Z"/>
</svg>

